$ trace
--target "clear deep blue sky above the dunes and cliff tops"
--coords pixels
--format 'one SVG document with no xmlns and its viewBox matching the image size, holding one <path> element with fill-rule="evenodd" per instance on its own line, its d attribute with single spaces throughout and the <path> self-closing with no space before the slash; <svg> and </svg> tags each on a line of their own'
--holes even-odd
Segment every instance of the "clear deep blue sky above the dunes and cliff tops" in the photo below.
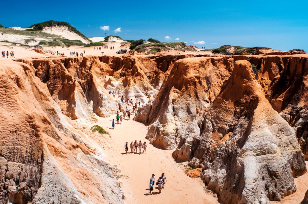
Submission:
<svg viewBox="0 0 308 204">
<path fill-rule="evenodd" d="M 123 39 L 182 41 L 205 48 L 239 45 L 308 51 L 307 6 L 308 1 L 276 0 L 17 0 L 1 3 L 6 9 L 1 9 L 0 24 L 28 27 L 52 19 L 71 23 L 87 37 L 107 33 Z M 101 30 L 100 26 L 109 26 L 109 30 Z M 117 28 L 121 32 L 115 33 Z"/>
</svg>

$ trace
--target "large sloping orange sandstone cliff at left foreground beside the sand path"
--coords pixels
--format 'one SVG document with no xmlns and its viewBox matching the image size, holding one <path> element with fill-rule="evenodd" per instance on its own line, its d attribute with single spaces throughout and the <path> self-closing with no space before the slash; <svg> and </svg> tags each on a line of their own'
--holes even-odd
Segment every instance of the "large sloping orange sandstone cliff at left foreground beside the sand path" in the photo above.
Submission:
<svg viewBox="0 0 308 204">
<path fill-rule="evenodd" d="M 117 170 L 73 132 L 34 74 L 24 63 L 0 66 L 0 203 L 122 203 Z"/>
</svg>

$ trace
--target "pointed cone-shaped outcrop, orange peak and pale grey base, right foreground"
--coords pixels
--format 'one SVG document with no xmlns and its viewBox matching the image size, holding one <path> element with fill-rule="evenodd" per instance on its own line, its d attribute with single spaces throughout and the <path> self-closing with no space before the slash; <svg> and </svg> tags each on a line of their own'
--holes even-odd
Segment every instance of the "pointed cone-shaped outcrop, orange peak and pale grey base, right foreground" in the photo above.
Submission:
<svg viewBox="0 0 308 204">
<path fill-rule="evenodd" d="M 295 131 L 272 109 L 249 62 L 235 62 L 199 126 L 193 157 L 222 202 L 269 203 L 296 190 L 293 177 L 306 163 Z"/>
</svg>

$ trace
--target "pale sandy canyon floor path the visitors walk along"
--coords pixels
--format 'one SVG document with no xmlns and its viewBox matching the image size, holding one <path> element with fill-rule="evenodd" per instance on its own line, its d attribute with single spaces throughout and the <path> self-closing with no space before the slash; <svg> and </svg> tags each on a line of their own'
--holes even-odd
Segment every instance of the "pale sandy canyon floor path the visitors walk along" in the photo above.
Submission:
<svg viewBox="0 0 308 204">
<path fill-rule="evenodd" d="M 110 165 L 116 165 L 120 169 L 120 181 L 123 182 L 125 203 L 152 203 L 160 201 L 166 203 L 218 203 L 217 198 L 206 193 L 201 179 L 190 178 L 184 172 L 181 164 L 174 162 L 172 150 L 166 151 L 153 147 L 145 139 L 147 127 L 139 122 L 123 120 L 122 124 L 115 124 L 111 130 L 111 121 L 115 115 L 109 118 L 98 117 L 97 125 L 102 126 L 110 133 L 107 138 L 109 146 L 104 147 L 104 158 Z M 116 122 L 115 122 L 116 123 Z M 146 154 L 125 153 L 124 144 L 128 145 L 137 140 L 147 142 Z M 130 152 L 130 147 L 128 146 Z M 139 150 L 138 150 L 139 152 Z M 122 154 L 121 154 L 122 153 Z M 153 195 L 148 194 L 148 182 L 151 175 L 155 174 L 155 181 L 161 173 L 166 174 L 167 182 L 162 193 L 154 188 Z M 154 186 L 156 187 L 156 185 Z"/>
</svg>

